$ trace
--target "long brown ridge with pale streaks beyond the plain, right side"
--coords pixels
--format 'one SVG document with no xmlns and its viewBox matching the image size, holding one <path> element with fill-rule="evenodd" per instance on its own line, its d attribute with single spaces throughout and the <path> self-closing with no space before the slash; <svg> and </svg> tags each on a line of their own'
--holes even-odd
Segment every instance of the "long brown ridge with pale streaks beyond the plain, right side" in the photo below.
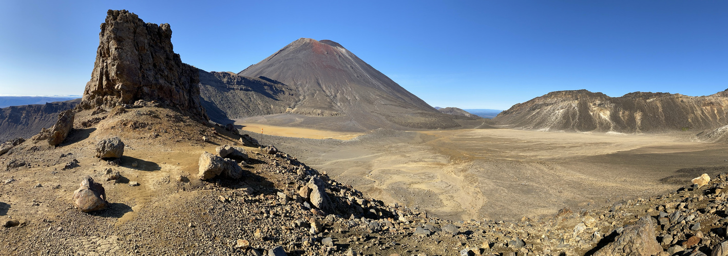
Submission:
<svg viewBox="0 0 728 256">
<path fill-rule="evenodd" d="M 620 133 L 703 131 L 728 124 L 728 91 L 709 96 L 633 92 L 620 97 L 554 91 L 494 118 L 511 128 Z"/>
</svg>

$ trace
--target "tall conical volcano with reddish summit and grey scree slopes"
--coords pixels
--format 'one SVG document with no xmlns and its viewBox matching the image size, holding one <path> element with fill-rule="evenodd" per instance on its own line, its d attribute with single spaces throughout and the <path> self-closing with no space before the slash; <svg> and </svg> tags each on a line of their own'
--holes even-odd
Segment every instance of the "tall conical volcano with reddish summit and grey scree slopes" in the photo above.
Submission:
<svg viewBox="0 0 728 256">
<path fill-rule="evenodd" d="M 300 95 L 290 102 L 290 112 L 339 117 L 325 123 L 347 123 L 357 130 L 460 126 L 458 117 L 438 112 L 329 40 L 298 39 L 237 75 L 264 76 L 290 86 Z"/>
</svg>

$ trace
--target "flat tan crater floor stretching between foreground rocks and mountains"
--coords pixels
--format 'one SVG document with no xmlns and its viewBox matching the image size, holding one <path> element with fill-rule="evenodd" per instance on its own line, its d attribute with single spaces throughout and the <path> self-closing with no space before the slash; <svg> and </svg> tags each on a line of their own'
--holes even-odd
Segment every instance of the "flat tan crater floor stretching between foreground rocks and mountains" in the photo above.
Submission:
<svg viewBox="0 0 728 256">
<path fill-rule="evenodd" d="M 289 137 L 271 136 L 264 144 L 338 181 L 386 203 L 451 220 L 539 218 L 563 207 L 590 209 L 728 170 L 724 144 L 698 141 L 689 132 L 373 131 L 341 141 L 310 139 L 336 138 L 336 132 L 265 129 Z"/>
</svg>

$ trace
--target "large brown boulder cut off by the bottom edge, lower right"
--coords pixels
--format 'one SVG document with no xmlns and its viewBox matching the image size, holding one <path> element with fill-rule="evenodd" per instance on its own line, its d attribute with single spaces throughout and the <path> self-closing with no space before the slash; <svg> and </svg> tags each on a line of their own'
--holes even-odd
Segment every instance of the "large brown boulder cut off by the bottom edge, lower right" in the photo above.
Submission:
<svg viewBox="0 0 728 256">
<path fill-rule="evenodd" d="M 654 236 L 654 223 L 649 216 L 643 217 L 634 225 L 625 226 L 622 234 L 612 243 L 599 249 L 595 256 L 616 255 L 657 255 L 662 247 Z"/>
</svg>

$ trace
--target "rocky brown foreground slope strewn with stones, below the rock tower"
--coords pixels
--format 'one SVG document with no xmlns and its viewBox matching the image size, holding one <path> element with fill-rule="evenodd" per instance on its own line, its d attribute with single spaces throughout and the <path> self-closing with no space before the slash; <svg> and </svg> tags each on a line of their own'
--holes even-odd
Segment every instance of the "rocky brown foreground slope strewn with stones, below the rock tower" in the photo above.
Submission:
<svg viewBox="0 0 728 256">
<path fill-rule="evenodd" d="M 96 157 L 110 137 L 124 141 L 124 155 Z M 725 174 L 598 210 L 454 222 L 384 205 L 245 138 L 154 104 L 76 112 L 62 144 L 36 136 L 0 157 L 1 253 L 699 255 L 726 237 Z M 224 144 L 247 157 L 240 177 L 201 181 L 199 155 Z M 85 176 L 105 188 L 105 210 L 76 209 Z"/>
</svg>

